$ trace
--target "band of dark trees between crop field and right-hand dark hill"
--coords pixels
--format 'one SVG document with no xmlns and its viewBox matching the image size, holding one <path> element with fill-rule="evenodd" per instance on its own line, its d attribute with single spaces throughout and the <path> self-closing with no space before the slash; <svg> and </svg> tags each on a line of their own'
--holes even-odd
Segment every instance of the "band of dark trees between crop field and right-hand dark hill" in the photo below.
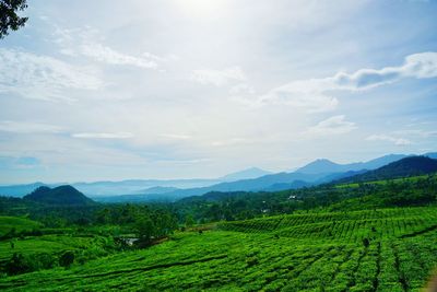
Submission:
<svg viewBox="0 0 437 292">
<path fill-rule="evenodd" d="M 380 180 L 351 186 L 321 185 L 277 192 L 211 192 L 175 203 L 179 221 L 246 220 L 293 213 L 296 210 L 359 210 L 386 207 L 427 206 L 437 202 L 437 176 Z"/>
</svg>

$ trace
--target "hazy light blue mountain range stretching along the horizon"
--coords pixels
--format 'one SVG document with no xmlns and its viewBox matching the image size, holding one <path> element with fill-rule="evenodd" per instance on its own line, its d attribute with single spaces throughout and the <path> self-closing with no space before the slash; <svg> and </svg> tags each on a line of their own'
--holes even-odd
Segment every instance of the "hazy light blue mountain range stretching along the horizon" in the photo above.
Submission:
<svg viewBox="0 0 437 292">
<path fill-rule="evenodd" d="M 212 179 L 130 179 L 121 182 L 95 182 L 71 184 L 79 191 L 99 201 L 154 201 L 169 200 L 190 196 L 201 196 L 210 191 L 277 191 L 309 187 L 332 180 L 364 175 L 367 171 L 379 168 L 404 157 L 405 154 L 389 154 L 367 162 L 339 164 L 321 159 L 316 160 L 295 172 L 269 173 L 251 167 L 241 172 Z M 437 153 L 424 156 L 437 159 Z M 61 184 L 0 186 L 0 195 L 22 197 L 37 187 L 58 187 Z"/>
</svg>

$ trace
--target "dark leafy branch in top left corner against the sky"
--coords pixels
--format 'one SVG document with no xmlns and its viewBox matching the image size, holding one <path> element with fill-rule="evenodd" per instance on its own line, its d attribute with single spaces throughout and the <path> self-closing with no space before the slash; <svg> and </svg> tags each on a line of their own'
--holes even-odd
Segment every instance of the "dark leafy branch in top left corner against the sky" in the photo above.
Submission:
<svg viewBox="0 0 437 292">
<path fill-rule="evenodd" d="M 0 39 L 9 35 L 9 30 L 17 31 L 24 26 L 27 17 L 16 13 L 27 8 L 27 0 L 0 0 Z"/>
</svg>

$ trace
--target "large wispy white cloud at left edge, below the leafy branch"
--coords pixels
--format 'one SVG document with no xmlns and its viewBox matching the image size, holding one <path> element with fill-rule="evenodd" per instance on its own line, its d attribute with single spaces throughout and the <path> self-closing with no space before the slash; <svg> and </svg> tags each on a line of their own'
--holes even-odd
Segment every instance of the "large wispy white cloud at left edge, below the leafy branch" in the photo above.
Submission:
<svg viewBox="0 0 437 292">
<path fill-rule="evenodd" d="M 104 82 L 87 67 L 75 67 L 48 56 L 0 48 L 0 93 L 26 98 L 72 100 L 66 90 L 97 90 Z"/>
</svg>

